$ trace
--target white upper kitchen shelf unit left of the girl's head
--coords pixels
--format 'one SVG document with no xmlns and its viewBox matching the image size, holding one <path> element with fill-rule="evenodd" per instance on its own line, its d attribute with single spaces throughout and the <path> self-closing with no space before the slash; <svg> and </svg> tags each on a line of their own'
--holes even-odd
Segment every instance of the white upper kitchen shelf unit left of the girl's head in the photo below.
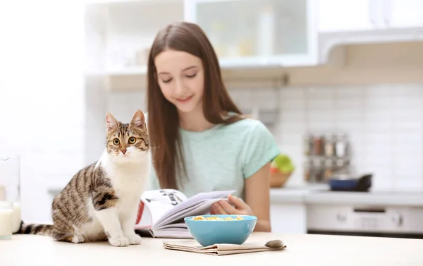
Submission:
<svg viewBox="0 0 423 266">
<path fill-rule="evenodd" d="M 157 32 L 183 20 L 183 0 L 95 0 L 85 13 L 86 75 L 145 75 Z"/>
</svg>

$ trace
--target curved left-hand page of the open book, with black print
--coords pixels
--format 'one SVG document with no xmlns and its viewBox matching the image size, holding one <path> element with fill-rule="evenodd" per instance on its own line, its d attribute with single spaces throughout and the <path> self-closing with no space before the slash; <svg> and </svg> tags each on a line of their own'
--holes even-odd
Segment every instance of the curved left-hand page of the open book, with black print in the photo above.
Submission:
<svg viewBox="0 0 423 266">
<path fill-rule="evenodd" d="M 188 198 L 182 192 L 174 189 L 145 191 L 141 196 L 139 209 L 141 217 L 138 217 L 135 228 L 151 227 L 169 210 L 185 200 L 188 200 Z"/>
</svg>

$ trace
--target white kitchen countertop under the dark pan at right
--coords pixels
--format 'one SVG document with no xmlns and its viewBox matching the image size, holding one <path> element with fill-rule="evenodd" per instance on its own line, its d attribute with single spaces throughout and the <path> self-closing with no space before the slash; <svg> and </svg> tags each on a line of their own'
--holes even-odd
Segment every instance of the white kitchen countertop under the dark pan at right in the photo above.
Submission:
<svg viewBox="0 0 423 266">
<path fill-rule="evenodd" d="M 287 188 L 271 188 L 272 203 L 372 205 L 423 207 L 423 193 L 405 192 L 338 192 L 329 186 L 314 185 Z"/>
</svg>

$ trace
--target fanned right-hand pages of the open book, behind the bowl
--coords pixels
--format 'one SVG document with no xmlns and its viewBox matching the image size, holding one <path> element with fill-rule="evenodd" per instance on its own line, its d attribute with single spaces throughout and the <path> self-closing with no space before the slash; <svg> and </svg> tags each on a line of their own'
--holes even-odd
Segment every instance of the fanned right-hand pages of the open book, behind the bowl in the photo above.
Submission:
<svg viewBox="0 0 423 266">
<path fill-rule="evenodd" d="M 195 213 L 198 208 L 198 211 L 201 214 L 204 214 L 203 212 L 207 209 L 207 207 L 211 207 L 212 204 L 218 200 L 227 199 L 228 195 L 234 192 L 235 191 L 212 191 L 198 193 L 191 198 L 184 200 L 167 212 L 164 212 L 164 214 L 162 214 L 161 217 L 153 223 L 153 228 L 157 229 L 165 224 L 183 219 L 185 217 L 185 210 L 189 210 L 189 213 L 194 213 L 194 215 L 196 215 Z"/>
</svg>

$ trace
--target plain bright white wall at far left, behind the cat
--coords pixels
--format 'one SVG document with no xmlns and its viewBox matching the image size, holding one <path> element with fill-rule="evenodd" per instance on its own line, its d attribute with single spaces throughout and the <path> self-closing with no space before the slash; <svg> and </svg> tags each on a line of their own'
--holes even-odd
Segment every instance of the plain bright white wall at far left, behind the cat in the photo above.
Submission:
<svg viewBox="0 0 423 266">
<path fill-rule="evenodd" d="M 0 153 L 22 157 L 27 222 L 49 220 L 47 188 L 63 187 L 82 167 L 85 150 L 83 6 L 48 7 L 0 4 Z"/>
</svg>

